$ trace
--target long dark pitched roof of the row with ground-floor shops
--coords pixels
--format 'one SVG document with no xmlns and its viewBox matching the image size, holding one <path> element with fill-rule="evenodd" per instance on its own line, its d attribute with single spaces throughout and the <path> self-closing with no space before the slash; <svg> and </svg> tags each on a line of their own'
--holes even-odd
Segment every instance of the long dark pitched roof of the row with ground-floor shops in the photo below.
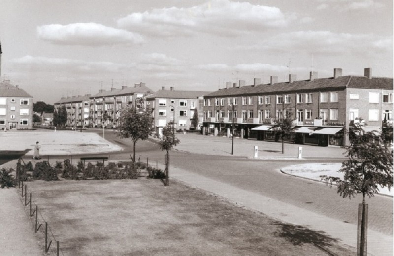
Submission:
<svg viewBox="0 0 394 256">
<path fill-rule="evenodd" d="M 238 96 L 238 95 L 254 95 L 254 94 L 268 94 L 275 92 L 298 92 L 298 91 L 311 91 L 323 89 L 345 89 L 346 87 L 352 88 L 371 88 L 371 89 L 393 89 L 393 78 L 372 78 L 369 79 L 365 76 L 341 76 L 338 78 L 317 78 L 313 81 L 303 80 L 281 82 L 271 84 L 260 84 L 257 86 L 242 86 L 231 87 L 228 89 L 221 89 L 206 95 L 205 97 L 215 96 Z"/>
</svg>

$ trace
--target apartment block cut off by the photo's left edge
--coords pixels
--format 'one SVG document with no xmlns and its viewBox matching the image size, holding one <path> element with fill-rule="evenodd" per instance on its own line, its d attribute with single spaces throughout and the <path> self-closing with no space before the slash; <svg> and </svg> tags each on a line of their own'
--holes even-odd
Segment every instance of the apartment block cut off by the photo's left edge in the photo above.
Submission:
<svg viewBox="0 0 394 256">
<path fill-rule="evenodd" d="M 33 127 L 33 97 L 9 80 L 0 84 L 0 130 L 30 130 Z"/>
</svg>

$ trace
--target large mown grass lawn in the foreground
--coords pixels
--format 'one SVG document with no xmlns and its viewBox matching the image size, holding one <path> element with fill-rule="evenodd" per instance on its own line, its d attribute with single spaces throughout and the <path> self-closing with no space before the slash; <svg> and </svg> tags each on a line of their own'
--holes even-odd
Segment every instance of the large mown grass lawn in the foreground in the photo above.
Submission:
<svg viewBox="0 0 394 256">
<path fill-rule="evenodd" d="M 26 184 L 66 256 L 328 255 L 319 247 L 355 254 L 324 233 L 176 181 L 170 187 L 148 179 Z"/>
</svg>

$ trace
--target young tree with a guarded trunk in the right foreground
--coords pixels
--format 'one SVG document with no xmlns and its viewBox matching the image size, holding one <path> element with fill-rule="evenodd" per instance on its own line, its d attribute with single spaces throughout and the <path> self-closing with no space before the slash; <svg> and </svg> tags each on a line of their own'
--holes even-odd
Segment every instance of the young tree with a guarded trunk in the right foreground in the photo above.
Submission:
<svg viewBox="0 0 394 256">
<path fill-rule="evenodd" d="M 355 194 L 362 194 L 361 238 L 358 252 L 366 255 L 366 207 L 365 196 L 373 197 L 379 192 L 379 187 L 393 187 L 393 155 L 389 148 L 381 144 L 384 134 L 362 130 L 362 120 L 355 124 L 349 133 L 350 146 L 346 147 L 348 160 L 342 163 L 338 172 L 343 173 L 343 179 L 332 176 L 321 176 L 326 184 L 337 185 L 337 192 L 351 199 Z"/>
</svg>

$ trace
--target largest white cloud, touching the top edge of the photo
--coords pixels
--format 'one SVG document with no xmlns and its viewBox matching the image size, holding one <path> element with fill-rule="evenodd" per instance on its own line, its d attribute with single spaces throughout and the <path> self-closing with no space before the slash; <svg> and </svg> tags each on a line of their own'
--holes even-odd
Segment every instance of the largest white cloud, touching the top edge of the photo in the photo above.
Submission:
<svg viewBox="0 0 394 256">
<path fill-rule="evenodd" d="M 118 19 L 120 28 L 152 36 L 190 36 L 195 32 L 235 36 L 250 30 L 264 31 L 287 25 L 276 7 L 248 2 L 213 0 L 190 8 L 153 9 Z"/>
</svg>

